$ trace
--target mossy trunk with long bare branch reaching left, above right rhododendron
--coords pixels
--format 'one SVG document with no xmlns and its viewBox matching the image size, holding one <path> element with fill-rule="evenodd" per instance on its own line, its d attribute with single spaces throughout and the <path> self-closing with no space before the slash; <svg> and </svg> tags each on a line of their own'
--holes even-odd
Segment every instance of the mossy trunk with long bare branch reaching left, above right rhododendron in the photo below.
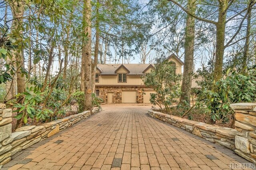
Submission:
<svg viewBox="0 0 256 170">
<path fill-rule="evenodd" d="M 214 81 L 218 81 L 222 77 L 224 42 L 225 42 L 225 26 L 226 13 L 228 8 L 228 0 L 219 1 L 219 16 L 216 25 L 216 59 L 214 65 Z"/>
</svg>

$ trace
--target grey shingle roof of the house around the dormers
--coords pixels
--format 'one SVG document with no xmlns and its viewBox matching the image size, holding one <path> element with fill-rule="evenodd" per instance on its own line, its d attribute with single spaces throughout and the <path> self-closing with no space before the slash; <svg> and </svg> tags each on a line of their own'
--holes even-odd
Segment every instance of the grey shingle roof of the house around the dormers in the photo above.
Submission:
<svg viewBox="0 0 256 170">
<path fill-rule="evenodd" d="M 122 64 L 98 64 L 97 67 L 102 71 L 101 75 L 116 74 L 115 71 Z M 143 71 L 150 64 L 123 64 L 130 71 L 129 75 L 143 75 Z M 154 64 L 152 64 L 154 66 Z"/>
</svg>

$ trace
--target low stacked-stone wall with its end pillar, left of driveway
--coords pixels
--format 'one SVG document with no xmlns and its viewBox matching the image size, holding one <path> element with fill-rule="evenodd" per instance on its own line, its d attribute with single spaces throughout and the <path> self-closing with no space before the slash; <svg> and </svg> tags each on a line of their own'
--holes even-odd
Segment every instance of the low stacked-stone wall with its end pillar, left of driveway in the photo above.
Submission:
<svg viewBox="0 0 256 170">
<path fill-rule="evenodd" d="M 98 111 L 98 109 L 94 109 L 92 114 Z M 12 155 L 90 115 L 90 111 L 84 111 L 40 126 L 24 126 L 12 133 L 12 109 L 6 109 L 6 105 L 0 103 L 0 169 L 11 160 Z"/>
</svg>

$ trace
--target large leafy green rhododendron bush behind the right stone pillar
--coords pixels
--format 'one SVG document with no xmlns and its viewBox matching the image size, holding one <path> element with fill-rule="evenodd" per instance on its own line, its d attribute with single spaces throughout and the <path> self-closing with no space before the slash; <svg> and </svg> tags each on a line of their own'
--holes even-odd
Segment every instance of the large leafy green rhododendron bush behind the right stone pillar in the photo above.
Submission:
<svg viewBox="0 0 256 170">
<path fill-rule="evenodd" d="M 212 89 L 202 89 L 200 94 L 212 121 L 225 119 L 227 114 L 234 117 L 234 112 L 230 109 L 232 103 L 256 101 L 256 66 L 248 69 L 246 73 L 230 73 L 228 69 L 222 79 L 213 83 Z"/>
</svg>

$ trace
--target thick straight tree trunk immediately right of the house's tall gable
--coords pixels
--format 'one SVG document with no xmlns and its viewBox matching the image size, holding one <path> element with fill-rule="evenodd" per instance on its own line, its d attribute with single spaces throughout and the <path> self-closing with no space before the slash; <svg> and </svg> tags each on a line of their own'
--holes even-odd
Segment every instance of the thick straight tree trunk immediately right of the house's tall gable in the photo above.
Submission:
<svg viewBox="0 0 256 170">
<path fill-rule="evenodd" d="M 195 14 L 196 0 L 188 0 L 189 12 Z M 184 71 L 180 96 L 180 104 L 190 106 L 190 93 L 192 84 L 192 73 L 194 64 L 194 42 L 195 42 L 195 18 L 187 14 L 186 28 L 185 28 L 185 58 Z"/>
</svg>

